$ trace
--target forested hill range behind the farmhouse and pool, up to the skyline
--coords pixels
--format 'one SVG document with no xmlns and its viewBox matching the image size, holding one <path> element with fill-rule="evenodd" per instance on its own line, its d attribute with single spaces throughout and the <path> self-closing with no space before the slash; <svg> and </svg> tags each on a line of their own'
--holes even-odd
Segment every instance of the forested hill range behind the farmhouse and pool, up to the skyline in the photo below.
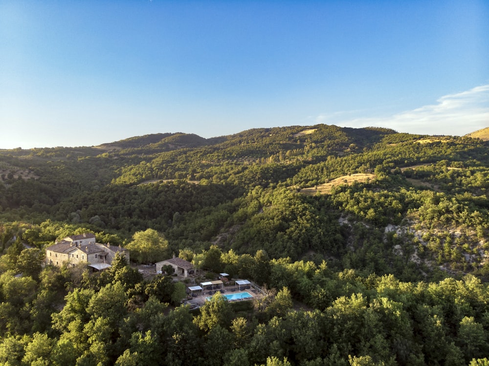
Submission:
<svg viewBox="0 0 489 366">
<path fill-rule="evenodd" d="M 1 221 L 40 247 L 59 236 L 39 226 L 51 220 L 120 243 L 152 228 L 173 253 L 485 275 L 488 159 L 480 139 L 328 125 L 2 150 Z"/>
</svg>

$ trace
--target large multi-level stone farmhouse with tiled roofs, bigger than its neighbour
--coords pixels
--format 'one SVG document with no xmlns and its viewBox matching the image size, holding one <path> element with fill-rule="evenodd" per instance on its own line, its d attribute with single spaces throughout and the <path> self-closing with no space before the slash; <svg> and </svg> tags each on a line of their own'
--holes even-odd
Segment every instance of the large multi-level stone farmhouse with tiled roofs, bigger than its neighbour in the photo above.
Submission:
<svg viewBox="0 0 489 366">
<path fill-rule="evenodd" d="M 46 264 L 61 267 L 67 263 L 74 267 L 85 262 L 101 270 L 110 267 L 116 253 L 123 254 L 129 261 L 129 250 L 125 248 L 96 243 L 93 234 L 72 235 L 46 248 Z"/>
</svg>

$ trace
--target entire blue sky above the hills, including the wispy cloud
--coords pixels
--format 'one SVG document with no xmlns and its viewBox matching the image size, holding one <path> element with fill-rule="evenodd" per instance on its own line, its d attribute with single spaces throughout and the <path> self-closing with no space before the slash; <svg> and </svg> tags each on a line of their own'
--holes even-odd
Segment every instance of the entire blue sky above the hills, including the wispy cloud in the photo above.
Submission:
<svg viewBox="0 0 489 366">
<path fill-rule="evenodd" d="M 489 127 L 489 2 L 0 0 L 0 149 Z"/>
</svg>

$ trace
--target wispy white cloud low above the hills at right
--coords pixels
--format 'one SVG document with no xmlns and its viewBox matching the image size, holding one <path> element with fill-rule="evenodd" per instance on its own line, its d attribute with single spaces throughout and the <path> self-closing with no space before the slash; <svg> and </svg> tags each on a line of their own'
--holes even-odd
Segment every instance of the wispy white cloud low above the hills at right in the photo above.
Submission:
<svg viewBox="0 0 489 366">
<path fill-rule="evenodd" d="M 489 85 L 448 94 L 436 104 L 406 110 L 389 117 L 348 118 L 352 112 L 335 112 L 315 118 L 316 123 L 344 127 L 387 127 L 399 132 L 462 136 L 489 127 Z M 346 117 L 346 118 L 345 118 Z"/>
</svg>

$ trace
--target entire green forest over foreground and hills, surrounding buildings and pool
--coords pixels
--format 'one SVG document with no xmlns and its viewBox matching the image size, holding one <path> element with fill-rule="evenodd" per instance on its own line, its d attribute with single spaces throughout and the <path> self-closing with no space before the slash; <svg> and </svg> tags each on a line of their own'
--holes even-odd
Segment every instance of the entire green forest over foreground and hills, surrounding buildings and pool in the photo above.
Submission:
<svg viewBox="0 0 489 366">
<path fill-rule="evenodd" d="M 0 150 L 0 363 L 485 365 L 488 147 L 317 125 Z M 269 296 L 194 313 L 122 259 L 42 265 L 86 232 Z"/>
</svg>

